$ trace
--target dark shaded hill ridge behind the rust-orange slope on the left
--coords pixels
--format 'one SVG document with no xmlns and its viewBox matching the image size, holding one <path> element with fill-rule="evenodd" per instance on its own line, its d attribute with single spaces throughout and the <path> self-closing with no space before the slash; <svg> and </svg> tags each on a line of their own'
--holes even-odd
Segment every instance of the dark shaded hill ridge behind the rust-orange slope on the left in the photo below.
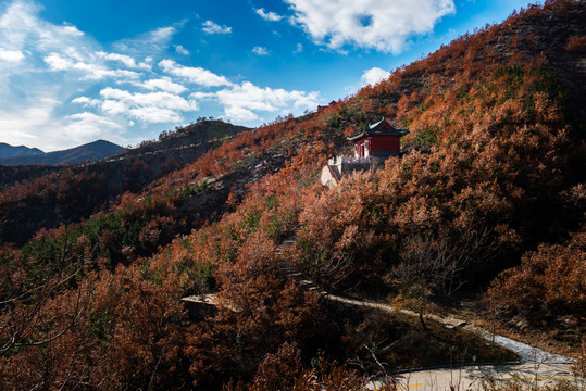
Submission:
<svg viewBox="0 0 586 391">
<path fill-rule="evenodd" d="M 93 163 L 61 168 L 0 165 L 0 187 L 4 188 L 0 192 L 0 243 L 22 244 L 41 227 L 87 218 L 124 192 L 140 191 L 244 130 L 248 128 L 205 119 Z M 73 159 L 83 151 L 82 147 L 64 151 L 59 159 Z"/>
</svg>

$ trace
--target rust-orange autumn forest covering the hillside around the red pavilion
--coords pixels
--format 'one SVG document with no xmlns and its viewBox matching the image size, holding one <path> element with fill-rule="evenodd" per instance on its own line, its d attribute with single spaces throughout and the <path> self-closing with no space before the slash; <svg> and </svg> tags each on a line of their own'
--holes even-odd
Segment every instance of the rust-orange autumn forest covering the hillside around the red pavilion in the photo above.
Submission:
<svg viewBox="0 0 586 391">
<path fill-rule="evenodd" d="M 100 194 L 108 172 L 73 168 L 8 186 L 0 389 L 360 390 L 396 369 L 512 358 L 423 317 L 328 302 L 283 265 L 327 291 L 467 312 L 578 354 L 585 5 L 529 5 L 140 186 Z M 346 136 L 382 116 L 410 130 L 401 157 L 322 186 Z M 82 210 L 10 243 L 9 212 L 30 197 Z M 180 301 L 209 293 L 213 311 Z"/>
</svg>

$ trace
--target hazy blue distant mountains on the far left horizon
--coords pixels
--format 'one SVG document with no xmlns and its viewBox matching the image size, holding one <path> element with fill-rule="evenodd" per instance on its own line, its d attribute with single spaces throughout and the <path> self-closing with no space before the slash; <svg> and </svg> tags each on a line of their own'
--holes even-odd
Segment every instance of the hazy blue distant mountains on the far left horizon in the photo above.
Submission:
<svg viewBox="0 0 586 391">
<path fill-rule="evenodd" d="M 48 153 L 42 152 L 37 148 L 27 148 L 24 146 L 12 147 L 2 142 L 0 143 L 0 164 L 76 164 L 84 162 L 84 160 L 90 162 L 102 160 L 122 151 L 124 151 L 124 148 L 105 140 L 98 140 L 67 150 Z"/>
</svg>

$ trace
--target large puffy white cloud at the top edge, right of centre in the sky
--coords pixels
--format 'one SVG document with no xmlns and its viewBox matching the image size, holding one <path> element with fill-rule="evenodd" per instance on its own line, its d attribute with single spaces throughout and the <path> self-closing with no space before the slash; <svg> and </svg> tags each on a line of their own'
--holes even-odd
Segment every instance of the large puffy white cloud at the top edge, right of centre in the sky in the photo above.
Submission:
<svg viewBox="0 0 586 391">
<path fill-rule="evenodd" d="M 345 45 L 400 52 L 409 37 L 433 30 L 456 12 L 453 0 L 285 0 L 301 26 L 320 45 Z"/>
</svg>

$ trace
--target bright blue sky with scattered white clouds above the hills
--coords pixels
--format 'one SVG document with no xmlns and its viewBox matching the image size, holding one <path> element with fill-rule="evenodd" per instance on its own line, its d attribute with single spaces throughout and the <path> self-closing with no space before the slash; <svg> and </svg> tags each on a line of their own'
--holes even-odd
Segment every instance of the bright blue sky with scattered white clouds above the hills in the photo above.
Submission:
<svg viewBox="0 0 586 391">
<path fill-rule="evenodd" d="M 0 142 L 123 147 L 354 94 L 519 0 L 0 0 Z"/>
</svg>

